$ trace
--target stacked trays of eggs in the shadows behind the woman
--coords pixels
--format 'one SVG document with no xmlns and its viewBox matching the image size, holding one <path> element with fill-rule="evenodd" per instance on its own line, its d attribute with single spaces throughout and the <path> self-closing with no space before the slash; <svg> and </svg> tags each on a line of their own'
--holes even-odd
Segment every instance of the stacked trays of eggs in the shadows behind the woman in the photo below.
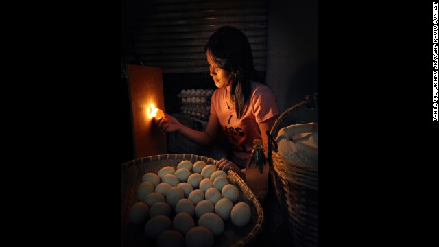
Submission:
<svg viewBox="0 0 439 247">
<path fill-rule="evenodd" d="M 183 89 L 177 95 L 180 98 L 180 113 L 204 121 L 209 119 L 212 94 L 213 89 Z"/>
</svg>

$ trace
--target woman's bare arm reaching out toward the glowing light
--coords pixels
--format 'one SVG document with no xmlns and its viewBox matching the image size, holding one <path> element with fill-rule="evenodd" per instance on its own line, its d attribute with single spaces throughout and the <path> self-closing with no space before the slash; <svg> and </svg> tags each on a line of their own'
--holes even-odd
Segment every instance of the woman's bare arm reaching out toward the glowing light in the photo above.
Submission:
<svg viewBox="0 0 439 247">
<path fill-rule="evenodd" d="M 158 127 L 165 132 L 179 132 L 190 141 L 197 143 L 198 145 L 210 145 L 217 138 L 221 125 L 217 115 L 210 114 L 209 121 L 207 122 L 206 130 L 198 131 L 193 130 L 180 122 L 171 115 L 165 113 L 165 118 L 158 121 Z"/>
</svg>

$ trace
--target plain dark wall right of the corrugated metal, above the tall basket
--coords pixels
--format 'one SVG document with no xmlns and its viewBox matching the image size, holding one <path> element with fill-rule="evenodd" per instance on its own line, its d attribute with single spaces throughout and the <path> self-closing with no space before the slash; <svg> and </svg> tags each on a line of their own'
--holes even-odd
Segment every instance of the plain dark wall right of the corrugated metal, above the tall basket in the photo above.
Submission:
<svg viewBox="0 0 439 247">
<path fill-rule="evenodd" d="M 318 0 L 269 1 L 267 84 L 281 111 L 318 92 Z"/>
</svg>

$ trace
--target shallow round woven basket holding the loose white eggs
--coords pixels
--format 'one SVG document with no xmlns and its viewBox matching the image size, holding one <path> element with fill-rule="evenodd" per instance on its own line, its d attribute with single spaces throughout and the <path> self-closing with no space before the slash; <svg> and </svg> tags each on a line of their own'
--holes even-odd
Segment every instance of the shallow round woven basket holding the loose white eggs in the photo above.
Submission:
<svg viewBox="0 0 439 247">
<path fill-rule="evenodd" d="M 143 174 L 157 173 L 162 167 L 176 168 L 184 160 L 205 161 L 208 165 L 215 165 L 217 161 L 195 154 L 162 154 L 137 158 L 121 164 L 121 246 L 155 246 L 152 239 L 147 239 L 143 233 L 143 226 L 133 226 L 128 223 L 128 211 L 132 204 L 137 202 L 137 188 L 141 184 Z M 261 232 L 263 224 L 263 210 L 261 204 L 248 189 L 246 183 L 233 171 L 227 174 L 228 182 L 239 190 L 237 202 L 247 202 L 252 209 L 252 218 L 244 227 L 233 226 L 230 220 L 224 222 L 224 233 L 215 237 L 214 246 L 251 246 L 255 236 Z M 236 203 L 237 203 L 236 202 Z M 195 222 L 196 223 L 196 222 Z"/>
</svg>

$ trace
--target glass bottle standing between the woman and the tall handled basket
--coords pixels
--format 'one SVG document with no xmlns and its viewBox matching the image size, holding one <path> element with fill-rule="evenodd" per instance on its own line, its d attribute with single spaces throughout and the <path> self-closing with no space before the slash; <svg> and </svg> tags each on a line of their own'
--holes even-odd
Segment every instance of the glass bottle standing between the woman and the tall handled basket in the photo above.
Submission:
<svg viewBox="0 0 439 247">
<path fill-rule="evenodd" d="M 246 163 L 246 184 L 258 200 L 263 200 L 267 196 L 268 165 L 261 139 L 253 140 L 253 150 Z"/>
</svg>

